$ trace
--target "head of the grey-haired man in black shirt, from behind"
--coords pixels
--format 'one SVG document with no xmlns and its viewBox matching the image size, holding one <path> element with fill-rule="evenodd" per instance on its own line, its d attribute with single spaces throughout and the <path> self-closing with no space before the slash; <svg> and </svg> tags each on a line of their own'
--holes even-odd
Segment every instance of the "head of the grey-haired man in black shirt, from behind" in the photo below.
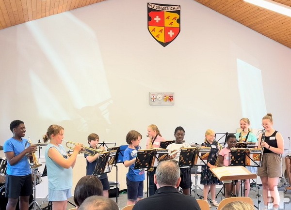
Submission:
<svg viewBox="0 0 291 210">
<path fill-rule="evenodd" d="M 178 187 L 180 183 L 180 168 L 177 161 L 161 160 L 154 175 L 155 184 L 160 188 L 162 186 Z"/>
</svg>

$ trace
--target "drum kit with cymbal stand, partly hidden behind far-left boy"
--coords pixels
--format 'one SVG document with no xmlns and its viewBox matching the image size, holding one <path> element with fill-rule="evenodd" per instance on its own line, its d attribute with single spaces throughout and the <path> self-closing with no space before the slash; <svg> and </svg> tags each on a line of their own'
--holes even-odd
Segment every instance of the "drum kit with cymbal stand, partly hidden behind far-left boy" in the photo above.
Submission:
<svg viewBox="0 0 291 210">
<path fill-rule="evenodd" d="M 39 140 L 39 142 L 40 142 L 40 140 Z M 39 159 L 40 158 L 40 150 L 42 149 L 42 146 L 47 146 L 48 144 L 37 143 L 37 144 L 33 144 L 33 145 L 38 147 L 38 159 Z M 0 146 L 0 150 L 3 150 L 2 146 Z M 40 184 L 42 182 L 42 177 L 47 176 L 47 167 L 45 166 L 43 173 L 41 173 L 38 170 L 38 167 L 41 166 L 42 164 L 38 164 L 38 161 L 36 160 L 34 153 L 32 153 L 32 159 L 33 159 L 33 162 L 30 163 L 30 165 L 31 165 L 31 170 L 32 170 L 33 197 L 31 196 L 32 199 L 30 198 L 29 209 L 42 210 L 40 208 L 40 206 L 38 205 L 38 203 L 36 202 L 36 200 L 33 198 L 36 197 L 36 185 Z M 3 200 L 5 199 L 4 196 L 5 196 L 6 169 L 7 169 L 7 160 L 5 158 L 0 157 L 0 198 L 3 198 Z M 6 201 L 6 203 L 2 202 L 2 199 L 1 199 L 0 209 L 2 209 L 2 205 L 4 205 L 4 203 L 5 203 L 5 206 L 3 206 L 3 209 L 6 208 L 8 199 L 6 199 L 5 201 Z M 18 208 L 18 204 L 17 204 L 16 209 L 17 208 Z"/>
</svg>

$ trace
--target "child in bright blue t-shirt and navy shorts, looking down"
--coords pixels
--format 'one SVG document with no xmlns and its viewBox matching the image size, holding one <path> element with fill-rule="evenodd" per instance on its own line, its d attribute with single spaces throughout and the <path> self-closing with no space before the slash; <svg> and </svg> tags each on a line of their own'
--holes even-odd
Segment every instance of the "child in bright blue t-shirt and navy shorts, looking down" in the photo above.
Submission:
<svg viewBox="0 0 291 210">
<path fill-rule="evenodd" d="M 126 135 L 126 142 L 129 147 L 124 151 L 123 164 L 129 167 L 129 172 L 126 174 L 126 184 L 128 193 L 127 205 L 135 204 L 143 198 L 145 169 L 134 169 L 137 150 L 140 149 L 139 144 L 142 135 L 137 131 L 129 131 Z"/>
</svg>

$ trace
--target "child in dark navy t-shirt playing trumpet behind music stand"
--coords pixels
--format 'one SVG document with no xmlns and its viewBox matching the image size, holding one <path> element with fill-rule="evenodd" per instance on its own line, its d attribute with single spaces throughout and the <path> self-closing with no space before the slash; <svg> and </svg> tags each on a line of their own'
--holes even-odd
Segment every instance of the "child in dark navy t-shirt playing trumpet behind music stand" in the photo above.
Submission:
<svg viewBox="0 0 291 210">
<path fill-rule="evenodd" d="M 90 134 L 88 135 L 88 143 L 90 145 L 90 148 L 97 149 L 98 143 L 99 143 L 99 136 L 97 134 Z M 98 148 L 100 150 L 104 150 L 104 147 Z M 86 175 L 92 175 L 96 164 L 97 164 L 97 158 L 99 157 L 99 153 L 97 152 L 94 156 L 91 156 L 89 154 L 84 153 L 84 157 L 86 158 L 87 166 L 86 166 Z M 101 174 L 97 177 L 103 186 L 103 196 L 108 197 L 108 190 L 110 189 L 109 181 L 107 174 Z"/>
</svg>

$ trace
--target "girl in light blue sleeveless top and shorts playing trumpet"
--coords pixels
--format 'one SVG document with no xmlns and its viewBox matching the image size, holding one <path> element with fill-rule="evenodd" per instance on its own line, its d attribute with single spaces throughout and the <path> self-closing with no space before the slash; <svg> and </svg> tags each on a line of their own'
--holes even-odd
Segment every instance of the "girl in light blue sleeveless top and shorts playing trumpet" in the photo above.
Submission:
<svg viewBox="0 0 291 210">
<path fill-rule="evenodd" d="M 70 157 L 61 145 L 64 138 L 64 128 L 60 125 L 51 125 L 44 142 L 49 141 L 45 152 L 49 180 L 49 201 L 52 202 L 52 210 L 66 210 L 67 200 L 72 196 L 73 170 L 82 144 L 76 144 Z"/>
</svg>

